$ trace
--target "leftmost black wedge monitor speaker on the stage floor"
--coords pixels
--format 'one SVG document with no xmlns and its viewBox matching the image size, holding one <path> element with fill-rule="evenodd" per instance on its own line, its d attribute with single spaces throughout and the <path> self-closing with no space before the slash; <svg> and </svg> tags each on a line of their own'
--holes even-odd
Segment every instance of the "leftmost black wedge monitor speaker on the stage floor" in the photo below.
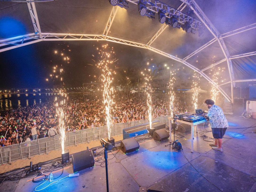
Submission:
<svg viewBox="0 0 256 192">
<path fill-rule="evenodd" d="M 72 154 L 73 171 L 81 171 L 83 169 L 94 166 L 94 157 L 91 150 L 85 150 Z"/>
</svg>

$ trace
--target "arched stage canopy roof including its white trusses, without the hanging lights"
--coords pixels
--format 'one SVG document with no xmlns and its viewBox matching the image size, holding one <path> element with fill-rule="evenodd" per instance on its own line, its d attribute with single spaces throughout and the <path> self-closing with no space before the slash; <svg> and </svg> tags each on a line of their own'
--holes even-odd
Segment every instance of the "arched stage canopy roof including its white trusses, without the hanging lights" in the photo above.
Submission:
<svg viewBox="0 0 256 192">
<path fill-rule="evenodd" d="M 1 1 L 0 52 L 63 39 L 142 47 L 183 63 L 209 82 L 213 66 L 225 67 L 219 90 L 229 99 L 232 86 L 256 79 L 256 1 L 161 1 L 184 13 L 194 10 L 192 17 L 205 26 L 204 36 L 161 24 L 157 13 L 155 19 L 142 17 L 134 0 L 128 1 L 127 10 L 108 0 Z"/>
</svg>

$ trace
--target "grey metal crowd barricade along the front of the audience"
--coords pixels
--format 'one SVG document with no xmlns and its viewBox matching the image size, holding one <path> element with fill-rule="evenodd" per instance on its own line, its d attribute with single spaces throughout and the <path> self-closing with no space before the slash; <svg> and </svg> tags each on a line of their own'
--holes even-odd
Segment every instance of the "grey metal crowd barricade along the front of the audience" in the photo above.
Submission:
<svg viewBox="0 0 256 192">
<path fill-rule="evenodd" d="M 160 121 L 169 126 L 169 116 L 153 118 L 152 121 Z M 111 128 L 110 136 L 121 135 L 123 129 L 148 123 L 148 120 L 132 121 L 128 123 L 117 123 Z M 89 143 L 90 141 L 100 140 L 108 137 L 107 126 L 94 127 L 91 129 L 68 132 L 64 146 Z M 53 150 L 61 150 L 59 135 L 41 138 L 33 141 L 23 142 L 10 146 L 0 147 L 0 164 L 11 163 L 17 159 L 30 159 L 33 155 L 48 154 Z"/>
</svg>

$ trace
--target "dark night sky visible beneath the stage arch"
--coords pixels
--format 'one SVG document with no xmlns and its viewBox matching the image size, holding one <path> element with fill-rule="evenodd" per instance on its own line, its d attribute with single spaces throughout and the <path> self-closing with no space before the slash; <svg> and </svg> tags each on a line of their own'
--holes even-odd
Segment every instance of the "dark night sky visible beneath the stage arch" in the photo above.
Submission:
<svg viewBox="0 0 256 192">
<path fill-rule="evenodd" d="M 92 55 L 97 55 L 96 48 L 105 44 L 114 48 L 114 57 L 118 59 L 114 65 L 120 67 L 117 73 L 118 70 L 126 70 L 138 65 L 147 67 L 147 62 L 151 66 L 174 63 L 171 59 L 146 49 L 105 41 L 39 42 L 0 53 L 2 72 L 0 88 L 44 88 L 60 85 L 60 81 L 53 81 L 49 76 L 52 74 L 54 65 L 58 65 L 58 68 L 60 65 L 63 66 L 62 77 L 66 86 L 82 86 L 82 83 L 98 81 L 100 72 L 92 60 L 95 59 Z M 70 63 L 63 60 L 64 56 L 70 58 Z M 177 62 L 175 63 L 177 66 Z M 179 64 L 178 66 L 184 67 Z M 129 75 L 133 74 L 127 74 Z M 48 82 L 46 78 L 49 79 Z"/>
</svg>

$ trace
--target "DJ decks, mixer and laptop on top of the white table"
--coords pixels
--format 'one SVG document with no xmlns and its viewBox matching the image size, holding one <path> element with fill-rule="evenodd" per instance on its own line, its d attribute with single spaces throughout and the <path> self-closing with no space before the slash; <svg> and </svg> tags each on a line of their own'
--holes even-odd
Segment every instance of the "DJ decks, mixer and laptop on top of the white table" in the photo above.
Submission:
<svg viewBox="0 0 256 192">
<path fill-rule="evenodd" d="M 180 114 L 175 115 L 174 119 L 181 119 L 183 121 L 187 122 L 198 122 L 202 120 L 208 120 L 208 118 L 203 117 L 203 113 L 207 113 L 206 111 L 203 111 L 202 109 L 196 109 L 194 113 L 186 113 L 186 114 Z"/>
</svg>

